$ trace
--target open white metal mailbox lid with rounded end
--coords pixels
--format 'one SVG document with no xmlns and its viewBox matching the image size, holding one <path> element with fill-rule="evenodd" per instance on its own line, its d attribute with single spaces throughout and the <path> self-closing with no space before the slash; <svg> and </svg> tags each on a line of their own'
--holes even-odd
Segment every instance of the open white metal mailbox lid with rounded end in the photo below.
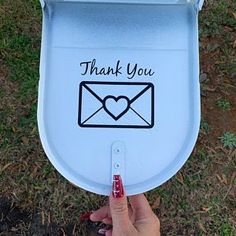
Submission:
<svg viewBox="0 0 236 236">
<path fill-rule="evenodd" d="M 44 150 L 65 178 L 109 195 L 112 147 L 119 142 L 125 146 L 121 172 L 128 195 L 161 185 L 183 166 L 200 123 L 197 20 L 191 4 L 56 1 L 44 7 L 38 123 Z M 118 60 L 124 67 L 138 63 L 152 68 L 155 76 L 129 81 L 126 76 L 83 76 L 80 63 L 93 59 L 101 67 L 115 66 Z M 152 84 L 154 125 L 81 127 L 81 88 L 100 81 L 108 87 L 110 82 Z"/>
</svg>

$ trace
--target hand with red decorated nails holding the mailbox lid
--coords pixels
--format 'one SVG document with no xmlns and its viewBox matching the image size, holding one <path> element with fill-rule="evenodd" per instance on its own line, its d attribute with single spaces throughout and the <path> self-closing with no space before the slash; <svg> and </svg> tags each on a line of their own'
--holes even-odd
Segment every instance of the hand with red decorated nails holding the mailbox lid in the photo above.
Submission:
<svg viewBox="0 0 236 236">
<path fill-rule="evenodd" d="M 129 197 L 130 207 L 121 177 L 113 179 L 113 192 L 109 206 L 93 212 L 90 219 L 112 225 L 112 229 L 100 229 L 106 236 L 160 236 L 160 222 L 143 194 Z"/>
</svg>

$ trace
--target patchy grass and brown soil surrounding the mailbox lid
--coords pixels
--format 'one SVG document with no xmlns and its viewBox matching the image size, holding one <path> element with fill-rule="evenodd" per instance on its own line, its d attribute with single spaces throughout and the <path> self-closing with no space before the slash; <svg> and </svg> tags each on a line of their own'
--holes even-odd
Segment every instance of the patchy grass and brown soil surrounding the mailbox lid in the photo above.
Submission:
<svg viewBox="0 0 236 236">
<path fill-rule="evenodd" d="M 181 171 L 147 193 L 162 235 L 236 234 L 235 12 L 234 0 L 208 0 L 200 14 L 201 72 L 207 75 L 201 132 Z M 38 0 L 0 0 L 0 212 L 6 198 L 14 206 L 11 225 L 1 228 L 0 219 L 0 234 L 88 235 L 97 226 L 81 223 L 79 215 L 104 205 L 106 198 L 61 177 L 39 141 L 40 31 Z"/>
</svg>

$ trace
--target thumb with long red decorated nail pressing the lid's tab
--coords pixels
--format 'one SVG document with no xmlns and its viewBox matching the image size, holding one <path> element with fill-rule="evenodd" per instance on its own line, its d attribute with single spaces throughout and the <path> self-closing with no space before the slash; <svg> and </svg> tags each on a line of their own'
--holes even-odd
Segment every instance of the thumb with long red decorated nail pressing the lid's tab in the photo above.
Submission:
<svg viewBox="0 0 236 236">
<path fill-rule="evenodd" d="M 112 194 L 109 198 L 113 228 L 124 228 L 131 222 L 129 220 L 128 202 L 120 175 L 114 175 Z"/>
</svg>

